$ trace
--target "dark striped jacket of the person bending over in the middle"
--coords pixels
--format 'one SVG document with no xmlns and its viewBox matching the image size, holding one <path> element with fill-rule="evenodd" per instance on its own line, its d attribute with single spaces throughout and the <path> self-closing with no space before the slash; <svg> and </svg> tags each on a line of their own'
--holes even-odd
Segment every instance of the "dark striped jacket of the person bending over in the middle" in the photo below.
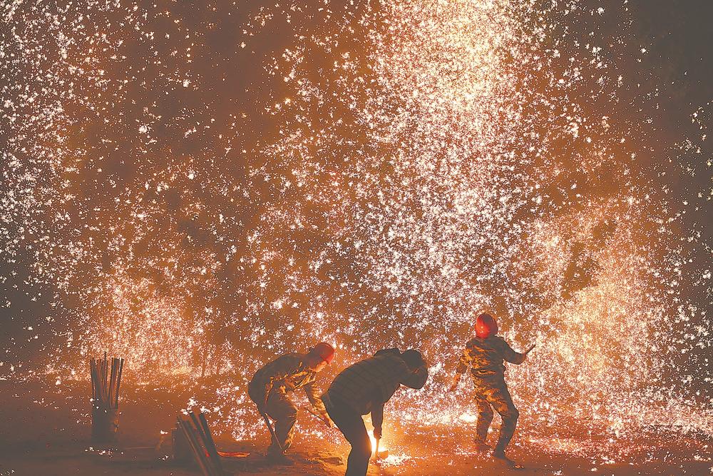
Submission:
<svg viewBox="0 0 713 476">
<path fill-rule="evenodd" d="M 414 372 L 398 352 L 381 352 L 342 370 L 322 400 L 341 400 L 359 415 L 366 415 L 376 407 L 383 407 L 399 386 L 419 389 L 428 377 L 425 366 Z"/>
</svg>

